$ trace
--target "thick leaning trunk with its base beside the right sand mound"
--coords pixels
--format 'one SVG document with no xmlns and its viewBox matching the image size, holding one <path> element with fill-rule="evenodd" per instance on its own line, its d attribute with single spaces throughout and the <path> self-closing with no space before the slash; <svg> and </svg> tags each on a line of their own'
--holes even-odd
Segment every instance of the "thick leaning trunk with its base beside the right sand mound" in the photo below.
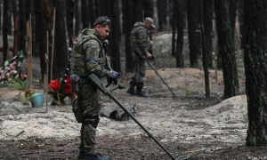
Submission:
<svg viewBox="0 0 267 160">
<path fill-rule="evenodd" d="M 219 52 L 222 55 L 224 98 L 239 94 L 239 79 L 229 17 L 229 0 L 215 0 Z"/>
</svg>

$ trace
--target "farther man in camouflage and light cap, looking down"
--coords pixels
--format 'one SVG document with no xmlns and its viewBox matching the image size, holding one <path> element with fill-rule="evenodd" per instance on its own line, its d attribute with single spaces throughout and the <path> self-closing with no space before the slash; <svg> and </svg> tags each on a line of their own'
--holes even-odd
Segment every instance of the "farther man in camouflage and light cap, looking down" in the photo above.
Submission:
<svg viewBox="0 0 267 160">
<path fill-rule="evenodd" d="M 144 22 L 136 22 L 131 31 L 131 47 L 134 52 L 135 63 L 134 75 L 129 82 L 130 87 L 127 90 L 131 95 L 135 94 L 141 97 L 148 97 L 148 94 L 142 92 L 142 79 L 146 74 L 146 61 L 142 59 L 138 52 L 144 54 L 148 59 L 151 58 L 152 55 L 148 50 L 152 45 L 152 41 L 150 40 L 150 29 L 152 28 L 156 28 L 154 21 L 150 17 L 147 17 Z M 134 92 L 135 86 L 136 92 Z"/>
</svg>

